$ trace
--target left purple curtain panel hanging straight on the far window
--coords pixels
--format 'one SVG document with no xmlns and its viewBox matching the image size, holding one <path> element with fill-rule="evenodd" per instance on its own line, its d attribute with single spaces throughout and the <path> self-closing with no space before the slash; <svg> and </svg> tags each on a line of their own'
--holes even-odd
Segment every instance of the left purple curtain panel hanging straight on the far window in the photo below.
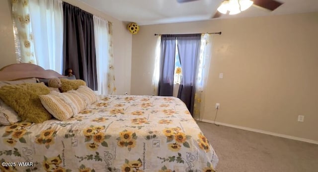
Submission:
<svg viewBox="0 0 318 172">
<path fill-rule="evenodd" d="M 175 36 L 161 35 L 159 96 L 173 95 Z"/>
</svg>

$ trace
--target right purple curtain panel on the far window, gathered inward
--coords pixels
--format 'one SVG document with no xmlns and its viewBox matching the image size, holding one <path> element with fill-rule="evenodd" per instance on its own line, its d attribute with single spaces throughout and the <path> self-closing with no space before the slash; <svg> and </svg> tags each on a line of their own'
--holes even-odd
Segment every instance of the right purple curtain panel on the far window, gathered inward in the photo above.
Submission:
<svg viewBox="0 0 318 172">
<path fill-rule="evenodd" d="M 182 80 L 178 91 L 181 99 L 193 114 L 196 67 L 200 52 L 201 34 L 177 35 L 177 47 L 182 68 Z"/>
</svg>

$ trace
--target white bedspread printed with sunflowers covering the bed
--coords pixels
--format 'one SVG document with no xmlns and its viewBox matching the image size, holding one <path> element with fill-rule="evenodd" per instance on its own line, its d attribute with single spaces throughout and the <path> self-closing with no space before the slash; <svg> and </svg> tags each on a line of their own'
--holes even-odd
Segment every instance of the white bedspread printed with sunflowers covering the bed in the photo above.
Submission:
<svg viewBox="0 0 318 172">
<path fill-rule="evenodd" d="M 3 172 L 213 172 L 218 163 L 173 97 L 105 96 L 67 121 L 20 122 L 0 133 L 1 163 L 11 163 Z"/>
</svg>

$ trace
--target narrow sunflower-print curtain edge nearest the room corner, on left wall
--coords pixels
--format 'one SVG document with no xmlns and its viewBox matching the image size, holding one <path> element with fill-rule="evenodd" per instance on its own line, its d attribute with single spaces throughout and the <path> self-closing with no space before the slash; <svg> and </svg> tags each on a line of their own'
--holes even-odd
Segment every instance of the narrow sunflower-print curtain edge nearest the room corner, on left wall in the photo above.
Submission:
<svg viewBox="0 0 318 172">
<path fill-rule="evenodd" d="M 113 28 L 112 23 L 108 22 L 108 72 L 107 72 L 107 94 L 116 94 L 115 87 L 115 70 L 114 70 L 114 55 L 113 55 Z"/>
</svg>

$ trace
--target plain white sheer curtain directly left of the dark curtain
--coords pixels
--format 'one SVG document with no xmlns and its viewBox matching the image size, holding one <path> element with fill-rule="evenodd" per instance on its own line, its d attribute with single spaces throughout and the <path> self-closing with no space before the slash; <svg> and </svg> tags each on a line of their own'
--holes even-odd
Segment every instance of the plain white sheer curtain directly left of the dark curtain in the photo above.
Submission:
<svg viewBox="0 0 318 172">
<path fill-rule="evenodd" d="M 62 0 L 29 0 L 37 64 L 63 73 Z"/>
</svg>

